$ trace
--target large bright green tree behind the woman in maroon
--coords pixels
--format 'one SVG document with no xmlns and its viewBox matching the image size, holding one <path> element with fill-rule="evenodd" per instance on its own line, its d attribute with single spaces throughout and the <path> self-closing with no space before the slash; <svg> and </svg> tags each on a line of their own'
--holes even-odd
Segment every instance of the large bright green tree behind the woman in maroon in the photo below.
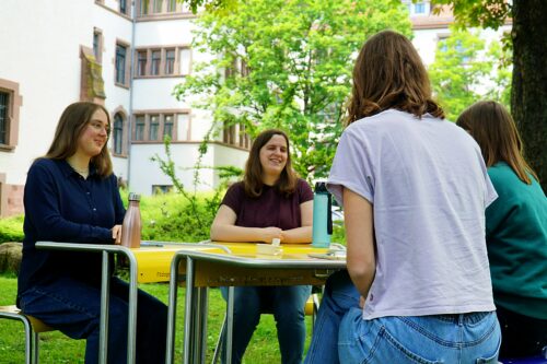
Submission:
<svg viewBox="0 0 547 364">
<path fill-rule="evenodd" d="M 385 28 L 410 35 L 397 0 L 241 0 L 198 19 L 195 46 L 216 57 L 175 89 L 213 110 L 212 133 L 240 125 L 256 136 L 281 128 L 294 167 L 325 177 L 341 133 L 356 55 Z"/>
</svg>

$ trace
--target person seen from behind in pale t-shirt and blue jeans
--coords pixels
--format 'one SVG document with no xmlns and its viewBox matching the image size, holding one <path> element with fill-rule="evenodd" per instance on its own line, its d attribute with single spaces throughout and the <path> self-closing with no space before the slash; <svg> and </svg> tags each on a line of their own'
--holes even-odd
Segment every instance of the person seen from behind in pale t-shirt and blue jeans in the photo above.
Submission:
<svg viewBox="0 0 547 364">
<path fill-rule="evenodd" d="M 328 189 L 348 270 L 327 280 L 306 363 L 497 363 L 484 233 L 497 196 L 401 34 L 361 48 Z"/>
</svg>

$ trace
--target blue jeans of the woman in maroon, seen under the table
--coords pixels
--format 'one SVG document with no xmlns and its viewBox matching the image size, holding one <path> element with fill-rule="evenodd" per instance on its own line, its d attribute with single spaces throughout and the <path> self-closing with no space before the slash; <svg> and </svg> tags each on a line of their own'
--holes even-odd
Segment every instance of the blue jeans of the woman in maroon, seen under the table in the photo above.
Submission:
<svg viewBox="0 0 547 364">
<path fill-rule="evenodd" d="M 228 287 L 221 287 L 226 298 Z M 238 286 L 234 289 L 234 337 L 232 363 L 241 363 L 260 314 L 272 313 L 283 364 L 300 364 L 305 342 L 305 303 L 310 285 Z M 224 344 L 225 348 L 225 344 Z M 225 362 L 225 351 L 222 353 Z"/>
</svg>

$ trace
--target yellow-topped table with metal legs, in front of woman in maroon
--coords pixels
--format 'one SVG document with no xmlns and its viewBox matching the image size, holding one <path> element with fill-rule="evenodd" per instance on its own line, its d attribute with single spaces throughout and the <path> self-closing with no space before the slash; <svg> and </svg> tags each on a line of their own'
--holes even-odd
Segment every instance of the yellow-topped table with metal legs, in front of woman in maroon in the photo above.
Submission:
<svg viewBox="0 0 547 364">
<path fill-rule="evenodd" d="M 310 254 L 326 254 L 328 249 L 310 244 L 282 245 L 280 256 L 258 255 L 256 244 L 214 243 L 230 253 L 177 251 L 173 257 L 170 280 L 166 363 L 173 363 L 175 316 L 179 262 L 186 259 L 186 303 L 184 363 L 205 363 L 207 351 L 208 289 L 229 286 L 228 355 L 231 360 L 233 324 L 233 286 L 324 284 L 336 270 L 346 269 L 345 259 L 318 259 Z M 338 249 L 344 249 L 339 247 Z"/>
</svg>

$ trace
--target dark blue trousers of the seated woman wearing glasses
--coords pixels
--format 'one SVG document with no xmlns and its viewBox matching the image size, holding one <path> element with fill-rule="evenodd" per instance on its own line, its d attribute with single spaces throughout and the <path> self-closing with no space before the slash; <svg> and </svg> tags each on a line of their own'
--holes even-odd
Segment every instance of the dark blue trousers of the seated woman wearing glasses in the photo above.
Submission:
<svg viewBox="0 0 547 364">
<path fill-rule="evenodd" d="M 108 363 L 127 362 L 129 285 L 110 280 Z M 138 292 L 137 363 L 163 363 L 167 307 L 143 291 Z M 85 364 L 98 362 L 101 289 L 71 278 L 34 286 L 20 296 L 20 308 L 72 339 L 86 339 Z"/>
</svg>

